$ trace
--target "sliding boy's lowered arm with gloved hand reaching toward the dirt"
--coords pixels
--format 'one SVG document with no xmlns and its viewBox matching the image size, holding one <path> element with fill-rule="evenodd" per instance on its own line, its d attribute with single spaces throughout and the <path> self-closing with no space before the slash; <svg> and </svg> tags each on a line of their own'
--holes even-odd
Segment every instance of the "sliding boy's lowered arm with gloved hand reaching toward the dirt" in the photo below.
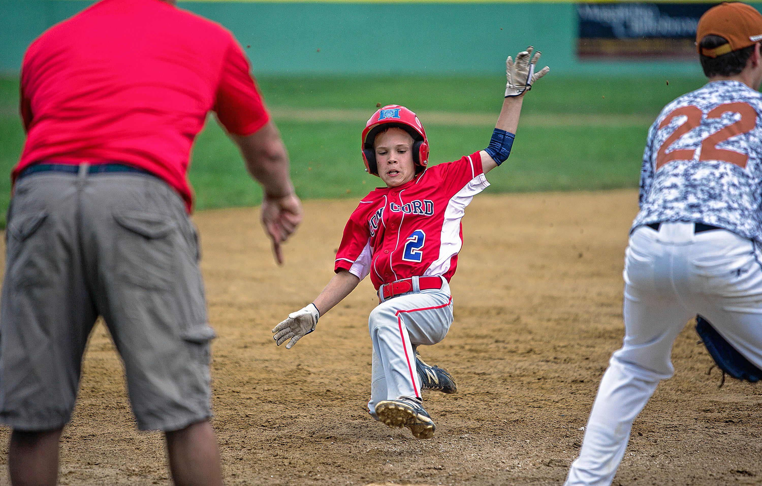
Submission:
<svg viewBox="0 0 762 486">
<path fill-rule="evenodd" d="M 273 329 L 275 343 L 280 346 L 290 340 L 286 345 L 286 349 L 291 349 L 291 346 L 296 344 L 296 341 L 315 330 L 320 316 L 344 300 L 351 291 L 357 288 L 359 283 L 360 278 L 347 272 L 347 270 L 339 270 L 331 278 L 331 282 L 325 285 L 318 298 L 312 301 L 312 304 L 288 314 L 287 319 L 283 320 Z"/>
</svg>

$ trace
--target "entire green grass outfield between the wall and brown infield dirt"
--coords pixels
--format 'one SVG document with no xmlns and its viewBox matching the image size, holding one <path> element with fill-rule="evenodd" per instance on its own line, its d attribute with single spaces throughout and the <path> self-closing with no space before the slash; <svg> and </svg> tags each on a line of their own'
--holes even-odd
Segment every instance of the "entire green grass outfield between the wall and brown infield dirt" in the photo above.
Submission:
<svg viewBox="0 0 762 486">
<path fill-rule="evenodd" d="M 399 103 L 415 111 L 491 113 L 500 110 L 499 77 L 273 77 L 258 80 L 271 108 L 341 108 L 367 111 Z M 699 88 L 702 79 L 553 77 L 527 95 L 511 159 L 489 175 L 489 192 L 569 191 L 635 187 L 648 124 L 672 99 Z M 24 133 L 18 119 L 18 80 L 0 79 L 0 211 L 10 197 L 8 173 Z M 555 115 L 563 120 L 554 121 Z M 568 121 L 571 115 L 571 121 Z M 575 116 L 604 115 L 576 124 Z M 617 117 L 625 115 L 619 123 Z M 632 115 L 635 115 L 634 117 Z M 355 115 L 355 118 L 357 115 Z M 628 118 L 629 117 L 629 118 Z M 488 118 L 489 120 L 490 118 Z M 494 123 L 456 127 L 427 124 L 431 161 L 457 159 L 484 148 Z M 302 198 L 359 198 L 380 183 L 363 171 L 363 122 L 278 121 L 288 147 L 294 183 Z M 190 172 L 198 209 L 248 206 L 261 192 L 245 172 L 238 150 L 210 118 L 194 146 Z M 4 218 L 3 218 L 4 220 Z"/>
</svg>

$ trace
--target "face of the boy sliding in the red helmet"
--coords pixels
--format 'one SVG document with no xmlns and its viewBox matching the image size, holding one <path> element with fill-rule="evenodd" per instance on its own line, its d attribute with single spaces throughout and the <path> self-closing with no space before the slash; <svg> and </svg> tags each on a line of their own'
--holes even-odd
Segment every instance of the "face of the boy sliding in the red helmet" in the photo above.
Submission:
<svg viewBox="0 0 762 486">
<path fill-rule="evenodd" d="M 413 180 L 413 137 L 402 128 L 389 128 L 376 137 L 376 167 L 386 187 L 396 187 Z"/>
</svg>

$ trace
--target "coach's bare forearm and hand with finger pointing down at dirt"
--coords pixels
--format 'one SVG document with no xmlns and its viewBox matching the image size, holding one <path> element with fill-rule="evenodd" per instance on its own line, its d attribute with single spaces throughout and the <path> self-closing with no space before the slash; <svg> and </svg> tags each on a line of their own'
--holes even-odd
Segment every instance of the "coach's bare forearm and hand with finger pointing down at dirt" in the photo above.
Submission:
<svg viewBox="0 0 762 486">
<path fill-rule="evenodd" d="M 275 259 L 280 265 L 283 263 L 280 243 L 286 241 L 302 221 L 302 204 L 291 183 L 286 146 L 272 121 L 254 134 L 230 134 L 230 138 L 241 149 L 248 172 L 263 187 L 262 225 L 273 242 Z"/>
</svg>

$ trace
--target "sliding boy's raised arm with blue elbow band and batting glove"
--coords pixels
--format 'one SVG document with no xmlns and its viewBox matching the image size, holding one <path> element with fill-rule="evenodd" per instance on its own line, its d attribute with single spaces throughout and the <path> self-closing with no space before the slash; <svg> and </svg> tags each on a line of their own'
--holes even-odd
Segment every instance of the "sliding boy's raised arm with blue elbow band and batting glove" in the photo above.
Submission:
<svg viewBox="0 0 762 486">
<path fill-rule="evenodd" d="M 545 66 L 539 72 L 534 72 L 540 53 L 537 51 L 533 56 L 533 51 L 534 47 L 527 47 L 527 50 L 516 55 L 515 63 L 511 56 L 508 56 L 505 61 L 507 84 L 503 108 L 498 116 L 498 123 L 495 124 L 489 146 L 479 153 L 482 156 L 482 169 L 485 174 L 508 158 L 519 126 L 523 95 L 532 89 L 533 82 L 545 76 L 550 70 L 548 66 Z"/>
</svg>

